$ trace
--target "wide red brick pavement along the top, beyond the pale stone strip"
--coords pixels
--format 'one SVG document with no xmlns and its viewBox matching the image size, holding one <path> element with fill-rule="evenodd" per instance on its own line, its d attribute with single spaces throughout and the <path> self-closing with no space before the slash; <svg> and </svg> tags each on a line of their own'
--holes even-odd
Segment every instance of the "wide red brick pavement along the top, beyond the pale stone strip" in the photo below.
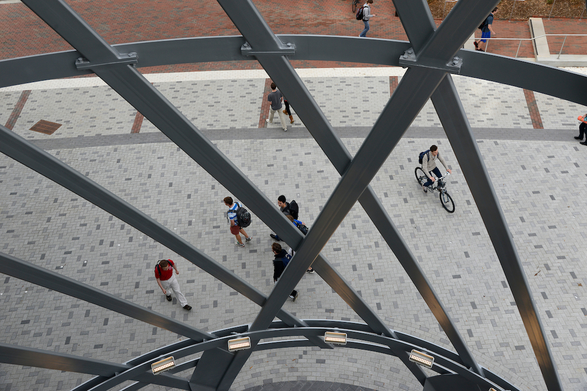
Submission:
<svg viewBox="0 0 587 391">
<path fill-rule="evenodd" d="M 357 36 L 363 23 L 354 18 L 350 0 L 322 0 L 320 2 L 291 2 L 291 0 L 254 0 L 259 12 L 275 33 L 325 34 Z M 238 35 L 217 2 L 203 0 L 68 0 L 68 3 L 97 32 L 111 44 L 143 40 L 186 38 L 191 36 Z M 378 0 L 373 5 L 377 16 L 371 21 L 368 36 L 374 38 L 406 40 L 402 23 L 394 16 L 391 0 Z M 551 19 L 545 21 L 547 33 L 586 30 L 585 21 Z M 441 21 L 437 20 L 439 24 Z M 527 21 L 494 22 L 498 38 L 529 38 Z M 477 30 L 477 36 L 479 31 Z M 30 56 L 39 53 L 71 49 L 60 36 L 50 29 L 22 3 L 0 5 L 0 59 Z M 569 39 L 568 39 L 569 40 Z M 553 40 L 552 47 L 556 45 Z M 562 38 L 561 38 L 562 42 Z M 587 39 L 585 41 L 587 43 Z M 490 42 L 489 51 L 514 56 L 519 41 Z M 567 44 L 565 43 L 565 47 Z M 575 54 L 583 50 L 582 43 L 569 42 L 568 51 Z M 553 49 L 551 49 L 553 50 Z M 583 50 L 583 53 L 585 50 Z M 576 53 L 579 54 L 579 53 Z M 523 42 L 518 57 L 532 57 L 528 42 Z M 369 64 L 292 61 L 294 67 L 350 67 Z M 143 68 L 143 73 L 185 72 L 220 69 L 260 69 L 255 61 L 226 62 L 222 64 L 179 64 Z"/>
</svg>

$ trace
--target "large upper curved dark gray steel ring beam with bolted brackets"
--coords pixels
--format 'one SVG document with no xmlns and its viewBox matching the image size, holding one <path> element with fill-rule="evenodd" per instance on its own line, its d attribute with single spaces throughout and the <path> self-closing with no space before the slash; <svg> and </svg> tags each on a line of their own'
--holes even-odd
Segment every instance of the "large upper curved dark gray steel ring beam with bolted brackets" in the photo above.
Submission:
<svg viewBox="0 0 587 391">
<path fill-rule="evenodd" d="M 393 39 L 356 38 L 330 35 L 278 35 L 296 45 L 291 60 L 322 60 L 360 62 L 399 66 L 399 56 L 410 42 Z M 180 38 L 112 45 L 119 52 L 136 52 L 139 67 L 185 63 L 254 60 L 240 51 L 245 42 L 242 36 Z M 77 70 L 77 50 L 18 57 L 0 61 L 0 88 L 33 81 L 91 74 L 90 70 Z M 461 49 L 463 58 L 460 74 L 532 90 L 587 106 L 585 75 L 522 59 L 479 53 Z M 41 77 L 42 75 L 42 77 Z M 544 80 L 556 77 L 556 86 Z"/>
</svg>

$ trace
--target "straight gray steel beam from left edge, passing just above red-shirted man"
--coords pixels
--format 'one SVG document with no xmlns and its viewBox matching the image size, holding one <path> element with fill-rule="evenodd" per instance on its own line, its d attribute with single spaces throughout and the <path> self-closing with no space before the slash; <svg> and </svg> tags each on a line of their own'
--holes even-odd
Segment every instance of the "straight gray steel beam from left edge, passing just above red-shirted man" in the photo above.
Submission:
<svg viewBox="0 0 587 391">
<path fill-rule="evenodd" d="M 0 152 L 152 237 L 256 304 L 263 305 L 265 302 L 266 296 L 261 291 L 211 259 L 187 240 L 2 125 L 0 125 Z M 282 213 L 281 215 L 283 216 Z M 280 311 L 277 316 L 288 324 L 303 325 L 298 318 L 285 310 Z"/>
</svg>

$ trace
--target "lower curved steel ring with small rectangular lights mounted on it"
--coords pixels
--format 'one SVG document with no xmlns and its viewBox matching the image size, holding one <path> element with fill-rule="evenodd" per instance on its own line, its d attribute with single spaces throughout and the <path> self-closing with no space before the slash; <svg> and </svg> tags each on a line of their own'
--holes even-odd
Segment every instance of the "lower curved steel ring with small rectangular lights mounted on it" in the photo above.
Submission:
<svg viewBox="0 0 587 391">
<path fill-rule="evenodd" d="M 471 380 L 471 382 L 476 383 L 478 386 L 480 386 L 481 389 L 498 387 L 502 389 L 519 391 L 517 387 L 511 385 L 506 380 L 500 378 L 499 376 L 490 372 L 490 370 L 486 368 L 483 368 L 484 373 L 486 374 L 485 378 L 483 376 L 478 375 L 477 373 L 474 373 L 471 369 L 468 369 L 461 363 L 455 361 L 455 359 L 458 360 L 458 355 L 456 355 L 456 353 L 448 351 L 447 349 L 444 349 L 441 346 L 431 344 L 430 342 L 424 341 L 423 339 L 417 338 L 416 336 L 402 334 L 402 336 L 404 336 L 405 338 L 395 339 L 389 336 L 377 335 L 373 334 L 372 332 L 365 331 L 365 324 L 359 324 L 356 322 L 332 321 L 321 319 L 304 319 L 303 321 L 306 322 L 308 325 L 313 326 L 293 328 L 286 326 L 283 322 L 274 322 L 272 324 L 272 328 L 266 330 L 257 332 L 245 331 L 239 334 L 232 334 L 234 333 L 235 329 L 247 328 L 247 325 L 243 325 L 237 328 L 222 329 L 220 331 L 215 331 L 213 333 L 214 335 L 224 336 L 212 339 L 211 341 L 191 344 L 190 346 L 179 346 L 181 345 L 181 342 L 177 342 L 176 344 L 164 346 L 163 348 L 156 349 L 154 351 L 147 353 L 146 355 L 142 355 L 140 357 L 133 359 L 133 362 L 135 362 L 133 368 L 127 369 L 124 372 L 121 372 L 117 375 L 114 375 L 114 373 L 112 373 L 112 375 L 114 376 L 108 379 L 105 379 L 103 377 L 90 379 L 88 382 L 77 386 L 72 391 L 89 390 L 90 387 L 88 386 L 90 384 L 92 386 L 92 391 L 108 390 L 126 380 L 136 379 L 137 377 L 140 377 L 141 375 L 148 373 L 150 370 L 150 365 L 155 359 L 163 358 L 167 355 L 173 355 L 174 358 L 176 358 L 177 360 L 184 358 L 185 356 L 194 355 L 210 349 L 225 348 L 227 346 L 228 339 L 232 338 L 239 338 L 242 336 L 249 336 L 251 339 L 267 339 L 291 336 L 303 336 L 308 338 L 312 336 L 324 335 L 326 331 L 333 331 L 334 329 L 336 329 L 336 331 L 346 332 L 347 338 L 353 340 L 348 341 L 345 348 L 383 353 L 390 356 L 396 356 L 396 354 L 394 354 L 394 351 L 409 352 L 411 351 L 411 349 L 417 349 L 419 351 L 423 351 L 427 354 L 434 356 L 434 366 L 432 368 L 434 372 L 437 372 L 439 374 L 458 373 L 464 378 Z M 403 339 L 409 339 L 409 342 L 404 341 Z M 278 340 L 261 342 L 257 346 L 255 346 L 254 351 L 296 348 L 312 345 L 312 342 L 308 339 L 283 339 L 281 341 Z M 177 349 L 170 350 L 173 348 Z M 181 363 L 170 372 L 177 373 L 183 370 L 193 368 L 197 364 L 198 360 L 199 358 L 196 358 Z M 95 379 L 100 379 L 102 381 L 96 383 Z M 149 385 L 149 383 L 137 382 L 130 385 L 129 387 L 131 388 L 125 390 L 138 390 L 141 387 L 147 385 Z"/>
</svg>

